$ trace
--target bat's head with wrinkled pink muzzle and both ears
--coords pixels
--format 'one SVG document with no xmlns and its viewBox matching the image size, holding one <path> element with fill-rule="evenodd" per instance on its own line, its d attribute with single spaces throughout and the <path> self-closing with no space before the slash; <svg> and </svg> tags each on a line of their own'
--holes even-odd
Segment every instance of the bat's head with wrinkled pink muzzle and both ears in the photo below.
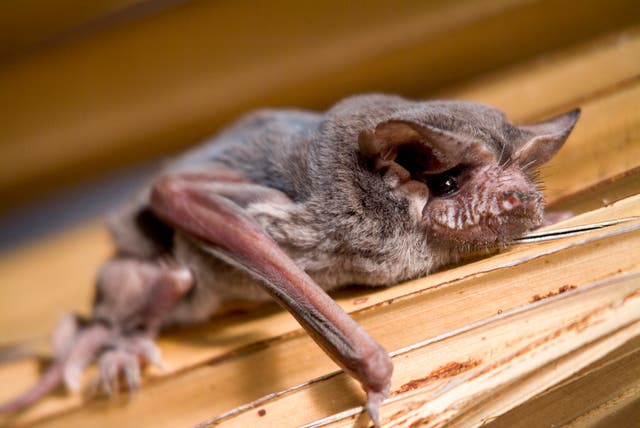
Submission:
<svg viewBox="0 0 640 428">
<path fill-rule="evenodd" d="M 537 167 L 562 147 L 579 114 L 515 126 L 480 104 L 417 103 L 361 132 L 359 147 L 409 201 L 432 245 L 493 248 L 541 224 Z"/>
</svg>

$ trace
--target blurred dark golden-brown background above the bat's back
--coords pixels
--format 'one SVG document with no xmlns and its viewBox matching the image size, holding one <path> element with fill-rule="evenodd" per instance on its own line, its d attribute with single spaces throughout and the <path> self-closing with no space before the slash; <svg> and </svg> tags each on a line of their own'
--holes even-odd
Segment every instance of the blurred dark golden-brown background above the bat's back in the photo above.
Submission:
<svg viewBox="0 0 640 428">
<path fill-rule="evenodd" d="M 249 109 L 433 97 L 638 22 L 637 0 L 4 0 L 0 250 L 95 218 Z"/>
</svg>

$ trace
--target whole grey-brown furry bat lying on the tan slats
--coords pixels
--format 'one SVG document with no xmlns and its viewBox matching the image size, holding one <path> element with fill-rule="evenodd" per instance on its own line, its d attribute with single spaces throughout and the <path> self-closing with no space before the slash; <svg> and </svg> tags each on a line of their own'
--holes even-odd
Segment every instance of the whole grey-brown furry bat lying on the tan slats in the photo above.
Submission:
<svg viewBox="0 0 640 428">
<path fill-rule="evenodd" d="M 275 299 L 367 393 L 377 424 L 392 364 L 327 294 L 392 285 L 543 221 L 536 168 L 579 116 L 515 126 L 491 107 L 398 96 L 347 98 L 325 113 L 263 110 L 169 164 L 109 219 L 116 253 L 90 319 L 68 316 L 54 362 L 15 411 L 97 361 L 107 392 L 158 362 L 163 326 L 207 320 L 226 301 Z"/>
</svg>

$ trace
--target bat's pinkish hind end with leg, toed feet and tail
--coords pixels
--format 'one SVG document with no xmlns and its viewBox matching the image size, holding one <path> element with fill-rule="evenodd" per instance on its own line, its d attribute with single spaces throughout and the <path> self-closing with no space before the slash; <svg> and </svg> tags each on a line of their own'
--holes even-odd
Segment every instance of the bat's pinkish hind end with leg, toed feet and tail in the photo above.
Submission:
<svg viewBox="0 0 640 428">
<path fill-rule="evenodd" d="M 97 385 L 106 393 L 117 390 L 121 375 L 129 389 L 136 389 L 141 364 L 160 361 L 153 339 L 164 316 L 192 282 L 190 272 L 164 260 L 108 261 L 98 278 L 93 318 L 67 315 L 58 323 L 53 363 L 33 388 L 0 405 L 0 414 L 31 405 L 63 382 L 78 389 L 82 371 L 95 360 Z"/>
</svg>

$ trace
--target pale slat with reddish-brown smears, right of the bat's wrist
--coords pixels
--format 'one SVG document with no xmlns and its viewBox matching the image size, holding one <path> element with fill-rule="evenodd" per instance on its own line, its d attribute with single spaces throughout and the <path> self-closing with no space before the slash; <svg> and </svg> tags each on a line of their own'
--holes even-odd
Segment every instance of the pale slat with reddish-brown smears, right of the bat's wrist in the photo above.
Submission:
<svg viewBox="0 0 640 428">
<path fill-rule="evenodd" d="M 622 289 L 613 290 L 617 285 L 623 285 Z M 625 286 L 633 288 L 625 290 Z M 425 349 L 412 352 L 406 361 L 398 359 L 397 371 L 403 371 L 401 365 L 405 363 L 406 369 L 413 373 L 404 384 L 407 387 L 399 389 L 401 394 L 383 404 L 382 423 L 394 427 L 482 425 L 504 408 L 546 388 L 548 382 L 570 376 L 611 349 L 640 335 L 640 322 L 637 314 L 633 314 L 637 310 L 635 305 L 629 303 L 621 312 L 614 309 L 614 296 L 623 290 L 629 296 L 635 296 L 632 299 L 638 303 L 637 286 L 637 280 L 614 282 L 609 290 L 610 296 L 595 308 L 591 305 L 602 298 L 595 297 L 595 293 L 590 295 L 590 299 L 585 293 L 580 299 L 574 296 L 563 302 L 547 302 L 548 306 L 544 308 L 528 309 L 531 311 L 528 314 L 520 312 L 508 321 L 491 323 L 451 340 L 425 346 Z M 586 307 L 575 311 L 576 305 L 581 303 L 586 303 Z M 534 313 L 536 311 L 537 314 Z M 580 315 L 583 316 L 578 318 Z M 535 323 L 531 322 L 532 319 Z M 631 324 L 626 324 L 629 320 L 632 320 Z M 599 324 L 597 327 L 596 322 Z M 585 330 L 581 330 L 583 327 Z M 589 329 L 590 333 L 583 333 Z M 527 332 L 526 335 L 523 331 Z M 594 341 L 589 342 L 589 339 Z M 473 343 L 471 349 L 465 346 L 469 343 Z M 461 370 L 447 373 L 449 367 L 458 365 L 462 366 Z M 441 371 L 444 374 L 440 374 Z M 427 376 L 422 377 L 425 374 Z M 291 401 L 287 404 L 293 404 Z M 275 409 L 270 410 L 275 413 Z M 311 424 L 353 426 L 358 415 L 350 413 L 343 412 Z M 258 423 L 256 412 L 251 416 L 254 416 L 254 423 Z"/>
</svg>

